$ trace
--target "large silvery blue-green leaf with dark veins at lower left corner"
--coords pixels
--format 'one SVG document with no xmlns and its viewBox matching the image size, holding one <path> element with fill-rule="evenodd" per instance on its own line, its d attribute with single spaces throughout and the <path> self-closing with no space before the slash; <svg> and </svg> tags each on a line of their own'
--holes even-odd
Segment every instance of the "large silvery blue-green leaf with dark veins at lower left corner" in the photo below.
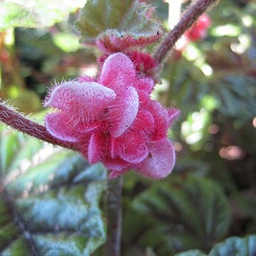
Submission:
<svg viewBox="0 0 256 256">
<path fill-rule="evenodd" d="M 106 172 L 1 127 L 0 255 L 91 255 L 105 241 Z"/>
</svg>

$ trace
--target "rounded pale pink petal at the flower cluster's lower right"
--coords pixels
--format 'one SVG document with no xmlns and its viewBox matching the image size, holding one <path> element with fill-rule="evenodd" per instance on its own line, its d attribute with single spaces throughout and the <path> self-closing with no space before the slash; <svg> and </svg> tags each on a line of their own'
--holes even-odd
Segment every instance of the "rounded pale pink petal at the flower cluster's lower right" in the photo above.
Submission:
<svg viewBox="0 0 256 256">
<path fill-rule="evenodd" d="M 137 173 L 150 178 L 165 178 L 174 169 L 174 146 L 169 139 L 149 144 L 149 156 L 134 166 Z"/>
</svg>

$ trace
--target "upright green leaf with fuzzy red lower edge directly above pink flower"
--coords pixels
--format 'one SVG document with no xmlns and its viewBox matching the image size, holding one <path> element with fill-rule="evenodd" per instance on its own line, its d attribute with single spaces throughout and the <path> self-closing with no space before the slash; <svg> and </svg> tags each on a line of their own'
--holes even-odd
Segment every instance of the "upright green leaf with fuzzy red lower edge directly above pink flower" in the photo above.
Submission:
<svg viewBox="0 0 256 256">
<path fill-rule="evenodd" d="M 148 18 L 149 11 L 151 6 L 134 0 L 88 1 L 76 27 L 82 43 L 94 44 L 100 38 L 100 45 L 112 51 L 130 43 L 145 46 L 161 33 L 159 23 Z"/>
</svg>

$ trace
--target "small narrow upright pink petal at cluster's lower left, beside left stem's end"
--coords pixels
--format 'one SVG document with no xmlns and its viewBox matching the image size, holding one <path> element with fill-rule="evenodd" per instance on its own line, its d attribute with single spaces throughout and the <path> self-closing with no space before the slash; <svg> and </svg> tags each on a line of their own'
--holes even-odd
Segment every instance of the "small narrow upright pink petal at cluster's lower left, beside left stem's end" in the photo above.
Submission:
<svg viewBox="0 0 256 256">
<path fill-rule="evenodd" d="M 102 160 L 105 151 L 105 135 L 101 132 L 93 132 L 88 146 L 88 161 L 95 164 Z"/>
</svg>

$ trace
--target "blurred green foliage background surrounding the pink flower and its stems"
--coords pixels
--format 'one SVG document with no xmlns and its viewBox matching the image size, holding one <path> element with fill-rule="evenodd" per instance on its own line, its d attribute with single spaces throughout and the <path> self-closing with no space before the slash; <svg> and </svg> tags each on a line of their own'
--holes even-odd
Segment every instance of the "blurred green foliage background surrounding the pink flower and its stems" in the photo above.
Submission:
<svg viewBox="0 0 256 256">
<path fill-rule="evenodd" d="M 167 29 L 168 4 L 149 2 Z M 40 113 L 55 82 L 97 73 L 100 53 L 81 46 L 70 26 L 84 4 L 1 1 L 2 100 L 25 114 Z M 181 109 L 169 133 L 178 161 L 163 181 L 133 172 L 124 177 L 123 255 L 256 254 L 255 236 L 241 239 L 256 233 L 255 13 L 253 0 L 220 0 L 209 13 L 207 37 L 165 63 L 153 97 Z M 101 165 L 87 166 L 65 150 L 41 157 L 46 144 L 4 127 L 0 147 L 0 255 L 90 255 L 102 245 Z M 55 223 L 48 220 L 53 213 Z M 102 247 L 95 255 L 101 253 Z"/>
</svg>

